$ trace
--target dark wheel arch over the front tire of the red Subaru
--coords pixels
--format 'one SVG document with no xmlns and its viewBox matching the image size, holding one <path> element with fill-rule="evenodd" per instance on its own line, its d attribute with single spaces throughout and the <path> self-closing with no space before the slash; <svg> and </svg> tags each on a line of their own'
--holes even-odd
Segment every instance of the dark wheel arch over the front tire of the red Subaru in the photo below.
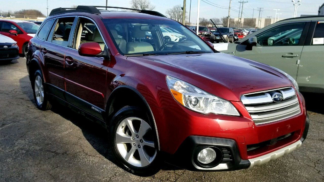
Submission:
<svg viewBox="0 0 324 182">
<path fill-rule="evenodd" d="M 148 114 L 150 124 L 155 128 L 157 147 L 158 150 L 160 150 L 159 135 L 153 112 L 145 97 L 132 86 L 120 85 L 111 92 L 106 104 L 106 125 L 110 125 L 111 118 L 119 109 L 129 105 L 145 109 Z"/>
</svg>

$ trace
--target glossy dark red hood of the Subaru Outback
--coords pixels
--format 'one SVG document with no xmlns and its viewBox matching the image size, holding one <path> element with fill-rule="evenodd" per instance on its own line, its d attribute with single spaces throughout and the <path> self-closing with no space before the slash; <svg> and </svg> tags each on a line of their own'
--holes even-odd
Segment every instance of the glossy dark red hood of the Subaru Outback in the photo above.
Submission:
<svg viewBox="0 0 324 182">
<path fill-rule="evenodd" d="M 265 64 L 224 53 L 142 56 L 127 59 L 135 62 L 145 59 L 148 61 L 145 61 L 146 64 L 151 64 L 146 66 L 154 68 L 155 65 L 158 71 L 165 68 L 163 73 L 227 100 L 238 101 L 245 93 L 292 85 L 283 74 Z M 217 89 L 227 90 L 235 96 L 215 92 Z"/>
</svg>

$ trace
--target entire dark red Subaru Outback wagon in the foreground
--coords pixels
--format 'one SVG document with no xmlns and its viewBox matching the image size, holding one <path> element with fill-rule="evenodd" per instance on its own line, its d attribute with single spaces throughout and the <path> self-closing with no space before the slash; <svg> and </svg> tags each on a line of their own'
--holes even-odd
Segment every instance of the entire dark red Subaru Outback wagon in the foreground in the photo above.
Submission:
<svg viewBox="0 0 324 182">
<path fill-rule="evenodd" d="M 29 42 L 37 107 L 58 102 L 101 123 L 120 166 L 141 176 L 156 173 L 160 159 L 237 170 L 302 145 L 309 121 L 292 77 L 219 53 L 158 12 L 137 11 L 52 10 Z M 187 39 L 165 42 L 161 27 Z"/>
</svg>

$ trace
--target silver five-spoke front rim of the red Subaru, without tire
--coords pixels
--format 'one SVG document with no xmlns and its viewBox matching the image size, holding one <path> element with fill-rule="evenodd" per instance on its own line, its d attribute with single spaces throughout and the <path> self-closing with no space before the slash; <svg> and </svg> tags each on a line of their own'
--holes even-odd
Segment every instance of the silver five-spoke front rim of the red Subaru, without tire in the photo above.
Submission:
<svg viewBox="0 0 324 182">
<path fill-rule="evenodd" d="M 152 128 L 143 119 L 123 119 L 117 127 L 115 142 L 119 154 L 133 166 L 145 167 L 156 157 Z"/>
</svg>

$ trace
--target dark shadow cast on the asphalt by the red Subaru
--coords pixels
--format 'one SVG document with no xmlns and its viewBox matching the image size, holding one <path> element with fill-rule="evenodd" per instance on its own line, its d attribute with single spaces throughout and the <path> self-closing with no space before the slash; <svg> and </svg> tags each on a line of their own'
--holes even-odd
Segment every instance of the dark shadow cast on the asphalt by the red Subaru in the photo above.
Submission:
<svg viewBox="0 0 324 182">
<path fill-rule="evenodd" d="M 30 100 L 33 105 L 36 107 L 36 102 L 34 100 L 33 91 L 30 85 L 29 77 L 25 76 L 20 78 L 19 80 L 20 87 L 22 93 L 24 93 L 28 100 Z M 76 113 L 72 109 L 63 106 L 61 104 L 52 103 L 51 111 L 60 115 L 64 119 L 70 121 L 75 126 L 81 129 L 83 136 L 85 139 L 91 144 L 91 146 L 102 156 L 108 159 L 110 162 L 114 163 L 115 165 L 119 165 L 117 163 L 115 157 L 113 156 L 110 145 L 109 145 L 109 138 L 108 138 L 108 131 L 100 124 L 93 122 L 83 115 Z M 162 162 L 160 165 L 162 170 L 179 170 L 181 168 L 170 165 L 168 163 Z"/>
</svg>

